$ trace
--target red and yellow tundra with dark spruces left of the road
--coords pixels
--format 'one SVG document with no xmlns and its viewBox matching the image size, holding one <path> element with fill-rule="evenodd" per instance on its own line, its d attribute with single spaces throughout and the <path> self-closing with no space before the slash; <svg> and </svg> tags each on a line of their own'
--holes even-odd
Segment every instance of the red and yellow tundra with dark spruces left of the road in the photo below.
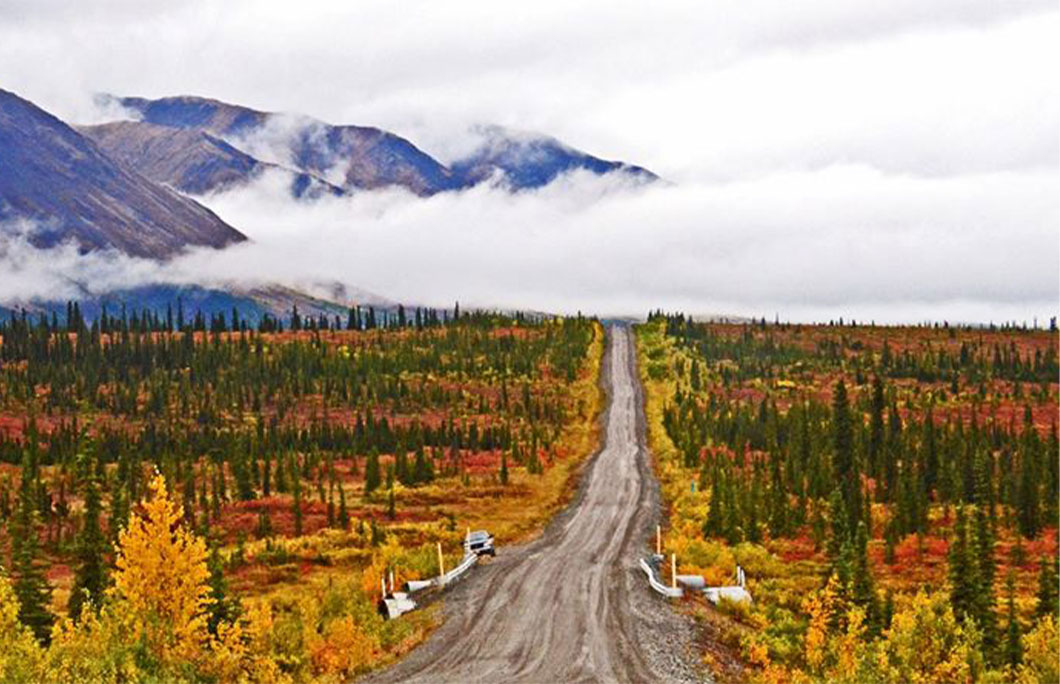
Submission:
<svg viewBox="0 0 1060 684">
<path fill-rule="evenodd" d="M 581 316 L 0 323 L 0 681 L 346 681 L 419 643 L 381 580 L 524 540 L 595 449 Z"/>
</svg>

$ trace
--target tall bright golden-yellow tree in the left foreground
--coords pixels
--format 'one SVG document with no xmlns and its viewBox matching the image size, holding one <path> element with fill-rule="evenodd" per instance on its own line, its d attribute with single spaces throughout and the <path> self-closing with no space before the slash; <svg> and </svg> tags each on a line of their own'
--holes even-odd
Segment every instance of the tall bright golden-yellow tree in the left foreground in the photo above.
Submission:
<svg viewBox="0 0 1060 684">
<path fill-rule="evenodd" d="M 180 526 L 183 510 L 156 475 L 151 498 L 119 537 L 112 595 L 162 663 L 195 662 L 208 637 L 206 543 Z"/>
</svg>

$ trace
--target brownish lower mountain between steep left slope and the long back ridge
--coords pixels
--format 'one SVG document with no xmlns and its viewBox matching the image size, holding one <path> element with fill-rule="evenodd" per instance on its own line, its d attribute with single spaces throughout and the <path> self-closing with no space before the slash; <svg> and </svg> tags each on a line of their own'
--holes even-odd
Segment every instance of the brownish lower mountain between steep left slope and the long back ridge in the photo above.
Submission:
<svg viewBox="0 0 1060 684">
<path fill-rule="evenodd" d="M 202 195 L 258 178 L 266 171 L 288 177 L 295 197 L 342 194 L 342 190 L 307 173 L 254 159 L 208 133 L 142 121 L 78 126 L 114 161 L 181 192 Z"/>
</svg>

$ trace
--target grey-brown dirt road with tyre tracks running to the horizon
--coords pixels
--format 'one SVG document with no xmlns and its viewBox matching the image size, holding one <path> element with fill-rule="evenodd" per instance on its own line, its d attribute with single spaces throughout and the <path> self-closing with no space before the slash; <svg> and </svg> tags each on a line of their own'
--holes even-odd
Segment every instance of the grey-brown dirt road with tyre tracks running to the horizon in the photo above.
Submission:
<svg viewBox="0 0 1060 684">
<path fill-rule="evenodd" d="M 694 682 L 692 627 L 651 593 L 658 486 L 629 327 L 608 328 L 606 441 L 541 539 L 498 549 L 445 595 L 445 622 L 366 682 Z"/>
</svg>

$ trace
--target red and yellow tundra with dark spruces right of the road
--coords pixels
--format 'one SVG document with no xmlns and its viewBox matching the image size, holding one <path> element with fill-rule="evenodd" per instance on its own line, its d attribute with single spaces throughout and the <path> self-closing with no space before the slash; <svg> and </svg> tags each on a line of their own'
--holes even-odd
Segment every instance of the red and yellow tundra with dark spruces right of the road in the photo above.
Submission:
<svg viewBox="0 0 1060 684">
<path fill-rule="evenodd" d="M 1057 333 L 637 331 L 683 608 L 720 681 L 1056 682 Z"/>
</svg>

